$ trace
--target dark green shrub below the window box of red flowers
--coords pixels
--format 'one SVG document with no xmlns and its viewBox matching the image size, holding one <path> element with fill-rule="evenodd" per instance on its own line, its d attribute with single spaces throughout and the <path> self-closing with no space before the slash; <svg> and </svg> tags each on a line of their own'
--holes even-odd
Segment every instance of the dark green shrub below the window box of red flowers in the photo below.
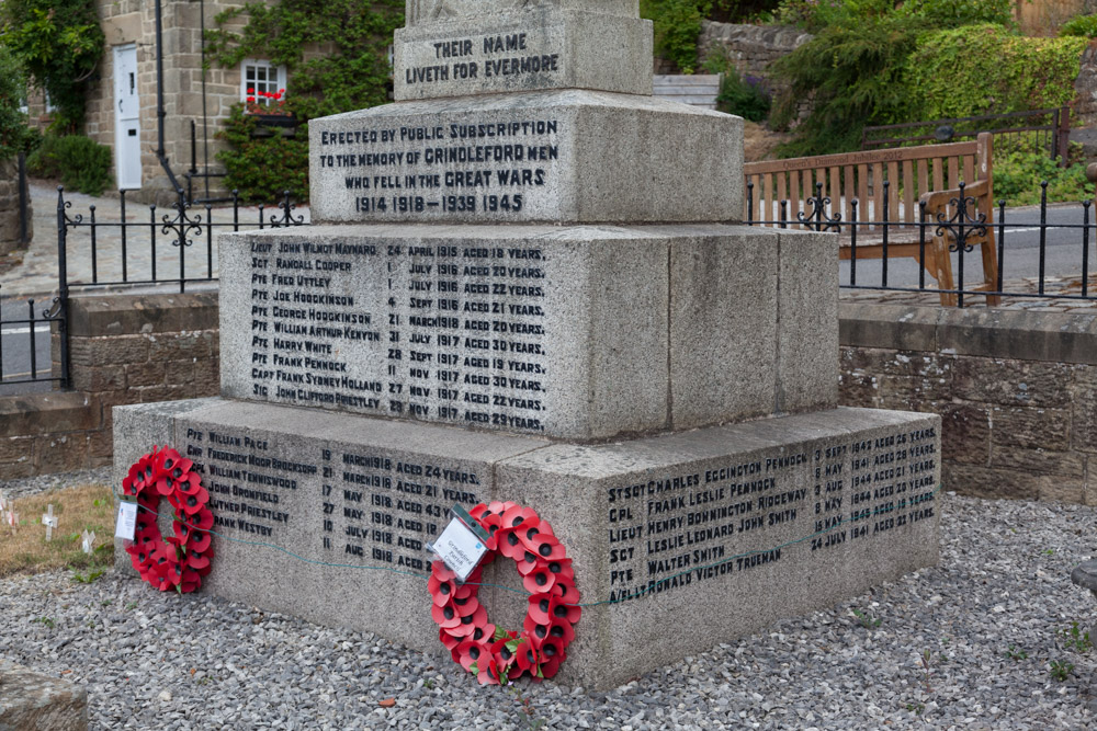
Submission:
<svg viewBox="0 0 1097 731">
<path fill-rule="evenodd" d="M 256 137 L 257 128 L 256 117 L 244 114 L 242 105 L 237 104 L 225 128 L 217 133 L 229 145 L 217 153 L 227 173 L 225 185 L 251 203 L 273 203 L 283 191 L 290 191 L 295 201 L 307 201 L 308 127 L 302 125 L 293 137 L 282 135 L 279 128 Z"/>
</svg>

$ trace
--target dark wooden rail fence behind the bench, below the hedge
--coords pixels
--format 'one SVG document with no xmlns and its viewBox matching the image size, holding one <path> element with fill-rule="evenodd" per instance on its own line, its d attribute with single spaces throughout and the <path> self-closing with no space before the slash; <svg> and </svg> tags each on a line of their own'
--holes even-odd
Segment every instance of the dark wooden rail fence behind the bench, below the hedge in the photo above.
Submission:
<svg viewBox="0 0 1097 731">
<path fill-rule="evenodd" d="M 1061 164 L 1066 164 L 1067 141 L 1071 137 L 1071 110 L 1063 106 L 864 127 L 861 132 L 861 149 L 955 142 L 975 139 L 983 132 L 994 135 L 995 142 L 1002 137 L 1031 135 L 1032 144 L 1047 149 L 1052 160 L 1059 158 Z"/>
</svg>

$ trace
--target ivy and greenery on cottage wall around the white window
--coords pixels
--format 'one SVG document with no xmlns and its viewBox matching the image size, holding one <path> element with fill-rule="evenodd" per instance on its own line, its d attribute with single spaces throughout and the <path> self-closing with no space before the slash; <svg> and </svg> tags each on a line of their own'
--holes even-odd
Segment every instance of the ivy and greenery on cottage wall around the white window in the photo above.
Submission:
<svg viewBox="0 0 1097 731">
<path fill-rule="evenodd" d="M 282 0 L 247 4 L 219 13 L 206 32 L 207 50 L 230 68 L 245 58 L 285 66 L 286 108 L 302 126 L 294 137 L 256 137 L 256 119 L 234 108 L 218 153 L 226 184 L 251 201 L 272 201 L 283 190 L 308 194 L 307 122 L 388 101 L 387 48 L 404 24 L 404 0 Z M 239 27 L 241 19 L 247 23 Z"/>
</svg>

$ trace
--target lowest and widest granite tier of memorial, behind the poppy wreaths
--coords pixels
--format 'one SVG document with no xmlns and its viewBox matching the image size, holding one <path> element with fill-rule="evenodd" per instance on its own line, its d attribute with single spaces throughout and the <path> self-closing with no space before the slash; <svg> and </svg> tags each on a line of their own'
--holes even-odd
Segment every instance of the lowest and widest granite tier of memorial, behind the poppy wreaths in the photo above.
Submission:
<svg viewBox="0 0 1097 731">
<path fill-rule="evenodd" d="M 577 445 L 204 399 L 116 408 L 115 483 L 174 446 L 216 521 L 203 591 L 436 653 L 427 582 L 405 573 L 428 572 L 453 504 L 529 505 L 591 605 L 556 679 L 608 688 L 936 563 L 939 424 L 832 409 Z M 520 586 L 496 563 L 486 581 Z M 521 595 L 480 597 L 521 628 Z"/>
</svg>

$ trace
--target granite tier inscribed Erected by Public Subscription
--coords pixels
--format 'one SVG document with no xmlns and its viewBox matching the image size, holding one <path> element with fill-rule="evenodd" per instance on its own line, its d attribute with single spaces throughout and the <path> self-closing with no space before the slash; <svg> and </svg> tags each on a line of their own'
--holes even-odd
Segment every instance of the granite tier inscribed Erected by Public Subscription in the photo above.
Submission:
<svg viewBox="0 0 1097 731">
<path fill-rule="evenodd" d="M 743 217 L 743 121 L 651 96 L 400 102 L 308 127 L 314 224 Z"/>
</svg>

